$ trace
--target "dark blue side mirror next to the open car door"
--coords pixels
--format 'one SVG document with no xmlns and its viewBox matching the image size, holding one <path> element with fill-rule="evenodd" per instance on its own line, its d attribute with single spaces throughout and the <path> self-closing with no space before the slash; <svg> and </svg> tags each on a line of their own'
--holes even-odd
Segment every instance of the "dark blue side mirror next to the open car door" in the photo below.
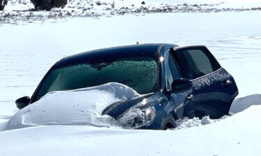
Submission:
<svg viewBox="0 0 261 156">
<path fill-rule="evenodd" d="M 171 88 L 173 93 L 185 92 L 192 88 L 192 81 L 187 78 L 174 80 L 171 84 Z"/>
</svg>

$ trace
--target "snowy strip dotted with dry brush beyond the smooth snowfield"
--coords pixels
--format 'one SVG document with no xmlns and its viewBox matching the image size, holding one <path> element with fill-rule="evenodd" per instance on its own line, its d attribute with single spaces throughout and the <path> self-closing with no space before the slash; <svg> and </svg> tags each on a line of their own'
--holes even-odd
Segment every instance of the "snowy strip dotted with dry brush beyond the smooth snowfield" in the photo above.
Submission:
<svg viewBox="0 0 261 156">
<path fill-rule="evenodd" d="M 155 12 L 241 12 L 261 10 L 258 0 L 70 0 L 65 8 L 35 11 L 30 0 L 10 0 L 0 11 L 1 23 L 21 24 L 68 17 L 111 17 Z M 0 25 L 1 26 L 1 25 Z"/>
</svg>

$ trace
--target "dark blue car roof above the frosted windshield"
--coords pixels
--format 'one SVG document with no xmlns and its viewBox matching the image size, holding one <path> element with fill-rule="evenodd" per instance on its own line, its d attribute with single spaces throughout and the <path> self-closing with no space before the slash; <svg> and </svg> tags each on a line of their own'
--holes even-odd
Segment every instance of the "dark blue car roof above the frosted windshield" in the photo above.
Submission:
<svg viewBox="0 0 261 156">
<path fill-rule="evenodd" d="M 113 57 L 135 57 L 148 56 L 157 59 L 157 53 L 163 46 L 177 46 L 175 44 L 134 44 L 129 46 L 116 46 L 106 49 L 97 49 L 94 51 L 86 51 L 76 55 L 71 55 L 58 61 L 54 68 L 66 67 L 70 64 L 79 64 L 81 62 L 97 62 Z M 131 53 L 130 53 L 131 51 Z"/>
</svg>

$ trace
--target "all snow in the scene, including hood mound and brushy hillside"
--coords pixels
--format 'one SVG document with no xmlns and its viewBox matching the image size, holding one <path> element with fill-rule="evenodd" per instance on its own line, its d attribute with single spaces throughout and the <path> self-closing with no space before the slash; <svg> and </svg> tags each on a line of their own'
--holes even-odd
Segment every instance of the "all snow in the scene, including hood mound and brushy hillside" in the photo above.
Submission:
<svg viewBox="0 0 261 156">
<path fill-rule="evenodd" d="M 96 2 L 33 12 L 29 0 L 10 0 L 0 11 L 0 155 L 260 155 L 260 1 L 116 0 L 114 8 L 113 1 Z M 117 89 L 54 92 L 15 107 L 61 58 L 136 42 L 205 44 L 239 87 L 229 116 L 182 119 L 167 131 L 123 130 L 100 112 L 140 95 L 113 83 L 105 87 Z"/>
</svg>

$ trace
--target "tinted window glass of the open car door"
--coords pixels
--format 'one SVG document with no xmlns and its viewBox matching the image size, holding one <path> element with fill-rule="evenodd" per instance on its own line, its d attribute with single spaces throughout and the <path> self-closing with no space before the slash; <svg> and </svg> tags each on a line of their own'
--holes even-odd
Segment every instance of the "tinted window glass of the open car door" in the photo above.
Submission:
<svg viewBox="0 0 261 156">
<path fill-rule="evenodd" d="M 177 49 L 173 55 L 183 78 L 195 79 L 221 68 L 219 62 L 205 47 Z"/>
</svg>

